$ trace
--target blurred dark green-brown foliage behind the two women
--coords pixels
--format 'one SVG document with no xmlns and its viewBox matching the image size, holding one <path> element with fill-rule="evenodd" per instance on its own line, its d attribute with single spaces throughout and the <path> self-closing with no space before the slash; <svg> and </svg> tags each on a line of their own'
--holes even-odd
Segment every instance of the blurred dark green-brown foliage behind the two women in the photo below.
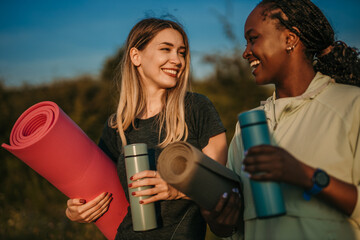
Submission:
<svg viewBox="0 0 360 240">
<path fill-rule="evenodd" d="M 248 63 L 242 59 L 231 26 L 222 15 L 225 34 L 234 44 L 231 54 L 204 57 L 213 73 L 191 78 L 192 90 L 206 95 L 215 105 L 230 142 L 237 115 L 259 105 L 272 92 L 256 86 Z M 116 109 L 117 84 L 113 73 L 124 49 L 103 65 L 99 77 L 57 79 L 51 84 L 7 87 L 0 80 L 0 142 L 8 143 L 12 126 L 27 108 L 40 101 L 54 101 L 86 133 L 98 141 L 103 124 Z M 0 150 L 0 239 L 105 239 L 93 224 L 69 221 L 64 211 L 67 197 L 22 161 Z M 207 239 L 216 239 L 208 233 Z"/>
</svg>

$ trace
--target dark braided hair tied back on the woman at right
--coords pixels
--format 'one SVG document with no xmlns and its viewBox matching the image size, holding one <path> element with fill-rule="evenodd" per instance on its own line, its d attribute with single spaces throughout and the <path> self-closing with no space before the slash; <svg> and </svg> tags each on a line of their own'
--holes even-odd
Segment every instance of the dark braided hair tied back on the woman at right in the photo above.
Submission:
<svg viewBox="0 0 360 240">
<path fill-rule="evenodd" d="M 335 33 L 321 10 L 310 0 L 262 0 L 263 16 L 277 19 L 279 28 L 299 36 L 314 70 L 336 82 L 360 86 L 360 59 L 356 48 L 335 41 Z M 280 10 L 280 11 L 279 11 Z"/>
</svg>

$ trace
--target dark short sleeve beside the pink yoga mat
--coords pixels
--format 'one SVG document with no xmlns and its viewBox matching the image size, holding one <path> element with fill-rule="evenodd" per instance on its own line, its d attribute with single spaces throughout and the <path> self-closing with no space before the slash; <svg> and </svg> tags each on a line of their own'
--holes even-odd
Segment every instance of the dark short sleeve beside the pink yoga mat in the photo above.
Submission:
<svg viewBox="0 0 360 240">
<path fill-rule="evenodd" d="M 109 126 L 108 121 L 104 124 L 98 146 L 113 162 L 117 162 L 120 155 L 119 147 L 117 146 L 117 132 L 116 129 Z"/>
</svg>

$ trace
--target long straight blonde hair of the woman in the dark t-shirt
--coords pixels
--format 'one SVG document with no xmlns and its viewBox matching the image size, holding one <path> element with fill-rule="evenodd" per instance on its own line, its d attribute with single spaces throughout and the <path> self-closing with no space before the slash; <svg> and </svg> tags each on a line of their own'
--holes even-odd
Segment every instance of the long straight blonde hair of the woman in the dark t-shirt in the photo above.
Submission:
<svg viewBox="0 0 360 240">
<path fill-rule="evenodd" d="M 166 147 L 169 143 L 186 140 L 188 128 L 185 122 L 185 95 L 189 89 L 190 52 L 189 42 L 182 26 L 171 20 L 147 18 L 138 22 L 130 31 L 126 41 L 125 54 L 117 67 L 115 78 L 120 83 L 120 100 L 117 107 L 116 117 L 110 120 L 110 125 L 117 128 L 122 145 L 127 144 L 125 131 L 132 125 L 135 119 L 146 111 L 145 86 L 141 81 L 136 66 L 130 59 L 130 49 L 143 50 L 149 42 L 162 30 L 172 28 L 177 30 L 183 37 L 186 48 L 185 67 L 180 75 L 176 86 L 167 89 L 162 102 L 163 108 L 158 115 L 159 141 L 161 133 L 165 131 L 165 139 L 159 143 L 160 147 Z"/>
</svg>

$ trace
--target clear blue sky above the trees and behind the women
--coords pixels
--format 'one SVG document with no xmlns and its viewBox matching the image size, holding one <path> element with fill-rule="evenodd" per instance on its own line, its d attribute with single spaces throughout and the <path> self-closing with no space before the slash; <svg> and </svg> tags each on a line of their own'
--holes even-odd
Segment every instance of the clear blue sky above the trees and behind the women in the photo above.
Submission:
<svg viewBox="0 0 360 240">
<path fill-rule="evenodd" d="M 7 86 L 97 75 L 107 57 L 146 16 L 171 14 L 190 39 L 192 72 L 204 54 L 229 52 L 217 14 L 226 14 L 243 48 L 243 25 L 258 0 L 0 0 L 0 79 Z M 359 0 L 314 0 L 337 38 L 360 49 Z M 231 6 L 230 8 L 228 6 Z"/>
</svg>

